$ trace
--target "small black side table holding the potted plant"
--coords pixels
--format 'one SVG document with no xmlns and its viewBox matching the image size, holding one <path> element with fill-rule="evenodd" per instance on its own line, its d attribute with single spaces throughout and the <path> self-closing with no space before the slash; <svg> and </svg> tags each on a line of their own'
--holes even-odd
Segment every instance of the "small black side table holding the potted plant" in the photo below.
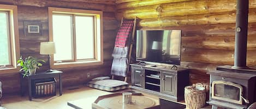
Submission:
<svg viewBox="0 0 256 109">
<path fill-rule="evenodd" d="M 23 78 L 23 74 L 20 73 L 20 87 L 21 87 L 21 95 L 24 95 L 24 87 L 23 82 L 24 79 L 27 79 L 28 84 L 28 98 L 32 100 L 32 80 L 35 79 L 47 79 L 47 78 L 58 78 L 59 79 L 59 95 L 62 95 L 62 81 L 61 81 L 61 74 L 63 72 L 59 70 L 52 70 L 52 72 L 37 72 L 35 74 L 29 74 Z"/>
</svg>

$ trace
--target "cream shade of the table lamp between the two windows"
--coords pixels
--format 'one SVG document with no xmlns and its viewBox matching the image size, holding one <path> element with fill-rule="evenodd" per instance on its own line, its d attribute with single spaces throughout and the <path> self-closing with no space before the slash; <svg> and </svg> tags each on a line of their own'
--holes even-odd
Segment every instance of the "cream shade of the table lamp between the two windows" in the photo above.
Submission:
<svg viewBox="0 0 256 109">
<path fill-rule="evenodd" d="M 40 54 L 49 55 L 55 54 L 55 43 L 54 42 L 41 42 L 40 43 Z"/>
</svg>

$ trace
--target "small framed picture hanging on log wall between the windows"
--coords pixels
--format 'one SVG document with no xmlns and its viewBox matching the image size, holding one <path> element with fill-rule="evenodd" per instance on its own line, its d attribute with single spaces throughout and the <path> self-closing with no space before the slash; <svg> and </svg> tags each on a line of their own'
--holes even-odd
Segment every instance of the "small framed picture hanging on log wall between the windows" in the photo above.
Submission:
<svg viewBox="0 0 256 109">
<path fill-rule="evenodd" d="M 43 34 L 43 27 L 40 21 L 24 21 L 23 28 L 25 36 Z"/>
</svg>

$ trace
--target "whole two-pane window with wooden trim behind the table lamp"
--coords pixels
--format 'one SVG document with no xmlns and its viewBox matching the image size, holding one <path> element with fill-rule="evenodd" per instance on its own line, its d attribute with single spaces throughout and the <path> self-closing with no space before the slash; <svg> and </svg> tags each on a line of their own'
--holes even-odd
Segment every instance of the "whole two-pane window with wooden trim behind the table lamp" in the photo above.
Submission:
<svg viewBox="0 0 256 109">
<path fill-rule="evenodd" d="M 49 8 L 49 11 L 52 17 L 50 40 L 56 46 L 51 67 L 103 63 L 101 11 L 62 8 Z"/>
</svg>

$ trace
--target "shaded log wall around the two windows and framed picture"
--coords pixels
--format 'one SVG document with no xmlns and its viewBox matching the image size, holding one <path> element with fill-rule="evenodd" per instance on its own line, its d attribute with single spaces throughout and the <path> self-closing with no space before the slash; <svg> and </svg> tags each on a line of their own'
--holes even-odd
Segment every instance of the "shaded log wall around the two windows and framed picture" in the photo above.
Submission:
<svg viewBox="0 0 256 109">
<path fill-rule="evenodd" d="M 88 80 L 102 75 L 110 75 L 112 62 L 112 49 L 114 48 L 114 39 L 118 21 L 115 18 L 115 0 L 102 2 L 100 0 L 75 0 L 73 2 L 66 0 L 48 1 L 48 0 L 3 0 L 0 4 L 17 5 L 19 17 L 19 35 L 21 55 L 34 56 L 47 61 L 47 55 L 39 54 L 40 42 L 49 41 L 48 30 L 48 7 L 73 8 L 86 10 L 103 11 L 104 27 L 104 65 L 87 66 L 77 68 L 60 69 L 64 71 L 62 75 L 63 87 L 84 84 Z M 23 30 L 23 21 L 41 21 L 43 25 L 43 35 L 25 36 Z M 40 67 L 39 71 L 46 70 L 49 65 L 45 64 Z M 91 74 L 87 78 L 87 73 Z M 0 81 L 3 82 L 3 91 L 5 95 L 19 94 L 20 79 L 18 73 L 0 74 Z"/>
</svg>

